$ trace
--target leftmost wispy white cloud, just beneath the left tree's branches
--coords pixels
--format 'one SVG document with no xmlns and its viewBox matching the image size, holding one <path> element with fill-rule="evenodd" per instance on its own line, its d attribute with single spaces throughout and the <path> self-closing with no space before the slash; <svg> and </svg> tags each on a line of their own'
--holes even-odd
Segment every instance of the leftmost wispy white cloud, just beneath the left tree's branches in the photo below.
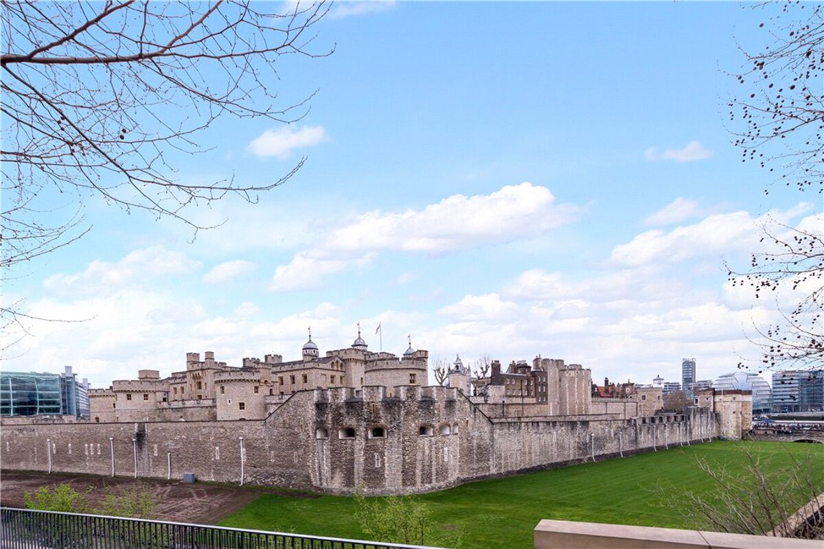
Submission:
<svg viewBox="0 0 824 549">
<path fill-rule="evenodd" d="M 82 272 L 57 273 L 48 277 L 43 285 L 49 291 L 103 293 L 115 291 L 133 282 L 147 281 L 152 277 L 197 271 L 201 265 L 185 254 L 155 245 L 134 250 L 115 263 L 96 259 Z"/>
</svg>

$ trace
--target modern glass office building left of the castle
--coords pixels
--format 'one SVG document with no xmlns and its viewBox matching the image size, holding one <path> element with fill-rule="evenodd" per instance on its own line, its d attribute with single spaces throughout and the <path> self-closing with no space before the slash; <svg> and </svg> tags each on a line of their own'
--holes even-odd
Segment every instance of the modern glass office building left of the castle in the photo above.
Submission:
<svg viewBox="0 0 824 549">
<path fill-rule="evenodd" d="M 88 417 L 88 381 L 66 366 L 63 374 L 0 371 L 0 416 Z"/>
</svg>

